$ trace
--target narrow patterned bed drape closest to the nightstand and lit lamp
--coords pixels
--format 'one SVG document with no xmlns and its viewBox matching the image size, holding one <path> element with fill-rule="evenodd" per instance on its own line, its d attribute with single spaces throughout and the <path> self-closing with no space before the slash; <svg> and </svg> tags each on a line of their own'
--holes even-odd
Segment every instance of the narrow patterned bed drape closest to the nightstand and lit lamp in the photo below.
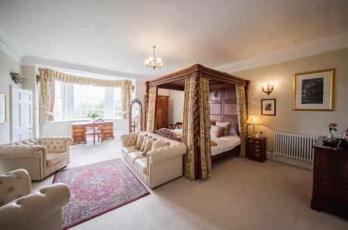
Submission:
<svg viewBox="0 0 348 230">
<path fill-rule="evenodd" d="M 246 146 L 246 100 L 244 86 L 236 84 L 237 91 L 237 112 L 238 112 L 238 123 L 239 123 L 239 136 L 241 139 L 241 148 L 239 157 L 245 157 L 245 146 Z"/>
</svg>

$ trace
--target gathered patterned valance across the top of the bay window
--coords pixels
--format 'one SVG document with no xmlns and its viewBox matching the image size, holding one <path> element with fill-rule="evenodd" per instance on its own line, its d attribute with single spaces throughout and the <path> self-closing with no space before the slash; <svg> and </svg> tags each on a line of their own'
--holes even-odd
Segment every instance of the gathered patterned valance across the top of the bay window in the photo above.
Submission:
<svg viewBox="0 0 348 230">
<path fill-rule="evenodd" d="M 39 69 L 40 76 L 43 79 L 53 78 L 58 82 L 66 82 L 71 84 L 84 84 L 90 86 L 100 87 L 131 87 L 132 82 L 129 80 L 109 80 L 109 79 L 95 79 L 89 77 L 79 77 L 74 75 L 68 75 L 63 72 L 49 69 Z"/>
</svg>

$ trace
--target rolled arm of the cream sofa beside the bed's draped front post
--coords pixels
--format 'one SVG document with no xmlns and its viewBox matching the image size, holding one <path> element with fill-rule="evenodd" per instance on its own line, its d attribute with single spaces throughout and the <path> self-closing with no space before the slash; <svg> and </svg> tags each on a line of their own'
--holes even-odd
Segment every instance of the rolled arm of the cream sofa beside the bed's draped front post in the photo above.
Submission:
<svg viewBox="0 0 348 230">
<path fill-rule="evenodd" d="M 171 144 L 170 146 L 155 148 L 152 151 L 149 151 L 146 157 L 148 162 L 155 164 L 161 162 L 162 160 L 168 160 L 174 158 L 177 155 L 184 155 L 187 151 L 187 148 L 184 144 L 177 142 Z"/>
</svg>

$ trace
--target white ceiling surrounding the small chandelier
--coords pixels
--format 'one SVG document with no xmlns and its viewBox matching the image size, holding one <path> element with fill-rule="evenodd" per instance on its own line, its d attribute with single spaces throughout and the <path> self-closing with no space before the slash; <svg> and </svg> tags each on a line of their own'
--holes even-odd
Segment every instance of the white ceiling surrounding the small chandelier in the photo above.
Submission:
<svg viewBox="0 0 348 230">
<path fill-rule="evenodd" d="M 158 76 L 346 33 L 348 1 L 1 0 L 0 31 L 24 56 Z M 143 66 L 152 45 L 162 70 Z"/>
</svg>

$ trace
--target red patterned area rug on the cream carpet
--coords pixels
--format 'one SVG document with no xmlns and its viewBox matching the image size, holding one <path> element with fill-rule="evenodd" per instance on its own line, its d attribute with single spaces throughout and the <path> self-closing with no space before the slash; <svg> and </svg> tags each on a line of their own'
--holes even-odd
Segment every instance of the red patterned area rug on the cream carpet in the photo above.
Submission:
<svg viewBox="0 0 348 230">
<path fill-rule="evenodd" d="M 58 171 L 57 182 L 68 185 L 71 194 L 62 208 L 63 229 L 150 193 L 120 158 Z"/>
</svg>

